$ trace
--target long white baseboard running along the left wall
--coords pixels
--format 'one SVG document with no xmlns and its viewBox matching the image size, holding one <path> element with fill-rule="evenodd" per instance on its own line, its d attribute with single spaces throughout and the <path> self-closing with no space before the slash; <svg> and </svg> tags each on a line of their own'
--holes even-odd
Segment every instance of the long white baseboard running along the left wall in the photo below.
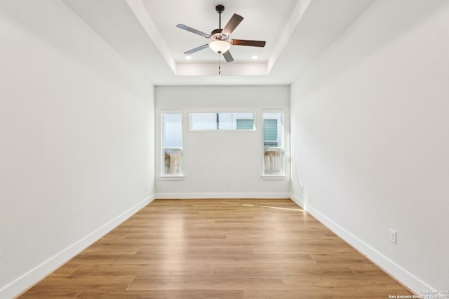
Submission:
<svg viewBox="0 0 449 299">
<path fill-rule="evenodd" d="M 23 291 L 27 290 L 30 286 L 33 286 L 36 282 L 40 281 L 48 274 L 51 274 L 51 272 L 58 269 L 58 267 L 67 263 L 68 260 L 116 228 L 120 223 L 126 221 L 126 219 L 130 218 L 130 216 L 133 216 L 140 209 L 152 202 L 154 198 L 154 195 L 145 198 L 145 200 L 135 204 L 130 209 L 124 211 L 119 216 L 116 216 L 111 221 L 91 232 L 89 235 L 86 235 L 86 237 L 79 239 L 79 241 L 68 246 L 66 249 L 44 261 L 40 265 L 34 267 L 34 269 L 22 274 L 22 276 L 0 289 L 0 298 L 14 298 Z"/>
</svg>

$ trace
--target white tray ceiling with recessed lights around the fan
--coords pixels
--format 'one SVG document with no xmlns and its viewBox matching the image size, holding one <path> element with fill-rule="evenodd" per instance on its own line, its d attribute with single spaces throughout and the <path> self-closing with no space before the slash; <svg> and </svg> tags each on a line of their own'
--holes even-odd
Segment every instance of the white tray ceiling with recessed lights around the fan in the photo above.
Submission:
<svg viewBox="0 0 449 299">
<path fill-rule="evenodd" d="M 290 84 L 375 0 L 62 0 L 154 85 Z M 267 41 L 264 48 L 232 46 L 234 62 L 206 48 L 183 53 L 208 39 L 233 13 L 244 20 L 231 39 Z M 258 59 L 251 57 L 257 55 Z"/>
</svg>

